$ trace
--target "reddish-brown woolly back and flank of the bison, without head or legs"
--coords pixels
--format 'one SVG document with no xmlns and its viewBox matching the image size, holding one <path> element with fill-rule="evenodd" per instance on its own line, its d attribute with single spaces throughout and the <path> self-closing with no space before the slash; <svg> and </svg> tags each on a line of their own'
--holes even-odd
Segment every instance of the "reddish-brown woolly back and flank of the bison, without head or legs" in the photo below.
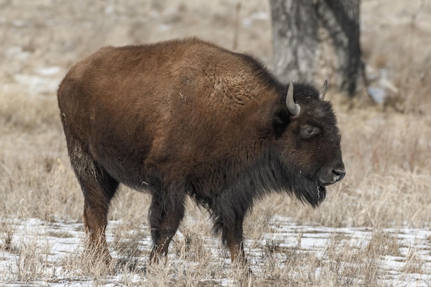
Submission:
<svg viewBox="0 0 431 287">
<path fill-rule="evenodd" d="M 134 188 L 228 164 L 235 142 L 255 142 L 268 116 L 262 106 L 277 97 L 265 72 L 198 39 L 105 47 L 74 65 L 59 88 L 68 145 L 78 142 Z"/>
</svg>

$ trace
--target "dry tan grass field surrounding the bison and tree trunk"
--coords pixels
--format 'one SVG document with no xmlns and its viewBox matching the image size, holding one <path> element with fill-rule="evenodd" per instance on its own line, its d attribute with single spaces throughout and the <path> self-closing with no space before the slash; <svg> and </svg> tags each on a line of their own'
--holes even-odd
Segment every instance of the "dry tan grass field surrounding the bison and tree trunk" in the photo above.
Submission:
<svg viewBox="0 0 431 287">
<path fill-rule="evenodd" d="M 271 67 L 269 3 L 0 0 L 0 286 L 430 286 L 431 3 L 406 3 L 362 1 L 364 60 L 368 74 L 381 77 L 372 85 L 395 88 L 386 89 L 383 104 L 364 91 L 354 100 L 328 92 L 346 178 L 318 209 L 275 194 L 255 205 L 244 226 L 252 276 L 249 267 L 231 266 L 207 213 L 192 202 L 169 260 L 147 266 L 149 197 L 125 187 L 109 213 L 112 275 L 82 252 L 83 197 L 56 103 L 61 78 L 104 45 L 191 35 L 236 46 Z M 291 247 L 277 236 L 286 224 L 280 218 L 301 230 Z M 26 231 L 29 220 L 50 233 Z M 320 253 L 301 248 L 308 232 L 301 226 L 328 228 Z M 345 228 L 370 236 L 354 247 L 358 239 Z M 421 252 L 419 243 L 400 243 L 406 228 L 426 234 Z M 52 237 L 78 237 L 79 244 L 49 259 Z M 385 266 L 388 257 L 397 258 L 396 273 Z"/>
</svg>

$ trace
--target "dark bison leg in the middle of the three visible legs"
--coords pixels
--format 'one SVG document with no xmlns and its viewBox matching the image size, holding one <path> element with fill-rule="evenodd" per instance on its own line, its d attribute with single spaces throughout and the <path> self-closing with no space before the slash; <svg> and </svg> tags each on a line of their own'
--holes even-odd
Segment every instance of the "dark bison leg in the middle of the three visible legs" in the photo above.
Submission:
<svg viewBox="0 0 431 287">
<path fill-rule="evenodd" d="M 154 244 L 149 257 L 150 262 L 158 262 L 160 255 L 167 255 L 169 243 L 184 217 L 184 198 L 184 195 L 178 194 L 172 198 L 153 195 L 149 208 L 149 224 Z"/>
</svg>

